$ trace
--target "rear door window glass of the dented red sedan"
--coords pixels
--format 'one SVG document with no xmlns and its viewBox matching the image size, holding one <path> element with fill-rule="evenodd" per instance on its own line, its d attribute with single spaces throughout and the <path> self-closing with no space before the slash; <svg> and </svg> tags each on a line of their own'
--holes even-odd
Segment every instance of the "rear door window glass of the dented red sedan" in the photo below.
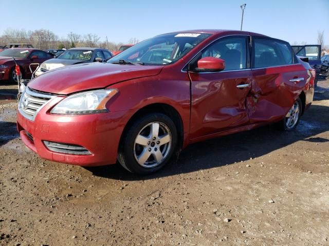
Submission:
<svg viewBox="0 0 329 246">
<path fill-rule="evenodd" d="M 293 52 L 288 43 L 274 39 L 254 39 L 254 68 L 293 64 Z"/>
</svg>

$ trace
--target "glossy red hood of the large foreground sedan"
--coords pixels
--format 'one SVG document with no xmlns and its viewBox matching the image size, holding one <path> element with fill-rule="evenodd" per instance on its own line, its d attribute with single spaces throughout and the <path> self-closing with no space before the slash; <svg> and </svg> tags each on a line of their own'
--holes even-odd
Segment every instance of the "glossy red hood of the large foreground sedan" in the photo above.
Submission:
<svg viewBox="0 0 329 246">
<path fill-rule="evenodd" d="M 105 88 L 120 81 L 154 76 L 163 66 L 87 63 L 59 68 L 33 79 L 31 89 L 67 95 L 78 91 Z"/>
</svg>

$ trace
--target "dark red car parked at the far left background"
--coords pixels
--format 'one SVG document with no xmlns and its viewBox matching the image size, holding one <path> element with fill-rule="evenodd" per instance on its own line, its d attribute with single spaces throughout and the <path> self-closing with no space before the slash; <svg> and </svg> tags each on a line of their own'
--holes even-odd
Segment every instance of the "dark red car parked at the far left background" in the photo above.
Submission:
<svg viewBox="0 0 329 246">
<path fill-rule="evenodd" d="M 53 55 L 42 50 L 32 48 L 12 48 L 0 52 L 0 80 L 9 79 L 12 83 L 17 83 L 17 74 L 15 71 L 15 58 L 17 64 L 21 68 L 22 77 L 30 79 L 32 74 L 30 64 L 42 64 L 45 60 L 53 58 Z M 35 69 L 38 65 L 35 65 Z"/>
</svg>

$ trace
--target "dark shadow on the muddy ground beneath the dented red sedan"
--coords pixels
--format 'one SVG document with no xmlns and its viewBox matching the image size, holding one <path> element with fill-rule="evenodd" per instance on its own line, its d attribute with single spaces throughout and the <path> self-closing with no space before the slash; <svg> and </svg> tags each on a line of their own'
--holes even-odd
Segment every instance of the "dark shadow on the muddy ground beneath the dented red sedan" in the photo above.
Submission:
<svg viewBox="0 0 329 246">
<path fill-rule="evenodd" d="M 315 137 L 317 134 L 329 131 L 329 118 L 318 117 L 318 112 L 329 115 L 329 107 L 318 105 L 310 107 L 302 116 L 296 130 L 291 132 L 278 131 L 272 125 L 193 144 L 181 152 L 177 161 L 148 176 L 131 174 L 121 168 L 119 164 L 87 169 L 96 176 L 111 179 L 153 179 L 212 169 L 257 158 L 300 140 L 329 141 L 325 138 Z M 273 156 L 273 158 L 275 157 Z"/>
</svg>

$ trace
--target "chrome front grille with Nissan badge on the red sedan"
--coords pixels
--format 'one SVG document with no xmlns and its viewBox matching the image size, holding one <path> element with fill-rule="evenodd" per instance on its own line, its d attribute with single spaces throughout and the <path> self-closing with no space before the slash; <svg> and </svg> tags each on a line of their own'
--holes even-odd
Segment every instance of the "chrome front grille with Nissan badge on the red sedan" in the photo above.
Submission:
<svg viewBox="0 0 329 246">
<path fill-rule="evenodd" d="M 26 87 L 19 103 L 19 111 L 25 118 L 34 120 L 36 114 L 54 95 L 40 93 Z"/>
</svg>

